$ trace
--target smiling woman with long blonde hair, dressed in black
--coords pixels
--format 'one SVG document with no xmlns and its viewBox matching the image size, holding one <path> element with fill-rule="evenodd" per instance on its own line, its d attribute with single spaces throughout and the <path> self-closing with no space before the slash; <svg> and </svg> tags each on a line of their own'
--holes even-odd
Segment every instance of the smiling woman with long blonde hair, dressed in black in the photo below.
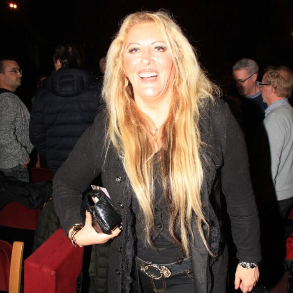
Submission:
<svg viewBox="0 0 293 293">
<path fill-rule="evenodd" d="M 103 86 L 105 113 L 54 179 L 66 234 L 80 246 L 112 241 L 111 293 L 225 292 L 220 182 L 240 260 L 235 287 L 252 290 L 259 222 L 245 141 L 168 13 L 124 19 L 107 54 Z M 122 214 L 123 231 L 112 235 L 96 233 L 89 213 L 83 226 L 79 213 L 81 192 L 100 173 Z"/>
</svg>

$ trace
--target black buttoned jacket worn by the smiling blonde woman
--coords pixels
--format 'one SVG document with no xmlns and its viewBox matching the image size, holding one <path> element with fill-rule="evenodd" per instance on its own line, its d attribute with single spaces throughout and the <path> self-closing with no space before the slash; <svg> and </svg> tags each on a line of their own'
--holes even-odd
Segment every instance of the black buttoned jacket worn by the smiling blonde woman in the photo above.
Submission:
<svg viewBox="0 0 293 293">
<path fill-rule="evenodd" d="M 202 109 L 201 114 L 201 134 L 203 141 L 206 142 L 203 154 L 205 176 L 202 184 L 202 204 L 210 225 L 209 236 L 207 227 L 204 226 L 207 240 L 217 255 L 221 241 L 218 224 L 221 206 L 220 191 L 216 185 L 220 185 L 230 215 L 237 258 L 247 262 L 258 262 L 261 259 L 259 220 L 242 132 L 228 106 L 218 99 L 215 105 Z M 56 213 L 67 232 L 75 223 L 82 221 L 81 192 L 102 172 L 103 186 L 107 188 L 113 203 L 119 208 L 124 227 L 111 242 L 109 292 L 128 292 L 134 261 L 134 193 L 113 145 L 110 145 L 105 159 L 105 121 L 102 116 L 96 117 L 93 126 L 84 132 L 68 160 L 57 172 L 53 182 L 53 198 Z M 207 293 L 211 289 L 210 266 L 214 260 L 209 257 L 201 240 L 195 218 L 193 233 L 196 237 L 194 247 L 191 248 L 194 291 Z M 222 277 L 225 278 L 225 275 Z"/>
</svg>

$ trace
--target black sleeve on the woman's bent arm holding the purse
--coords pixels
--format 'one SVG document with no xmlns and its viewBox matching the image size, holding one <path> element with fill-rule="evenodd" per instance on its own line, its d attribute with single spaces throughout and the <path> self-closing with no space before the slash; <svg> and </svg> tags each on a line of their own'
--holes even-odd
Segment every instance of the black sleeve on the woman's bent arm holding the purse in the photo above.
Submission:
<svg viewBox="0 0 293 293">
<path fill-rule="evenodd" d="M 97 116 L 94 124 L 82 134 L 68 159 L 54 176 L 55 209 L 66 233 L 74 224 L 82 222 L 82 192 L 101 173 L 105 159 L 104 128 L 104 122 Z"/>
</svg>

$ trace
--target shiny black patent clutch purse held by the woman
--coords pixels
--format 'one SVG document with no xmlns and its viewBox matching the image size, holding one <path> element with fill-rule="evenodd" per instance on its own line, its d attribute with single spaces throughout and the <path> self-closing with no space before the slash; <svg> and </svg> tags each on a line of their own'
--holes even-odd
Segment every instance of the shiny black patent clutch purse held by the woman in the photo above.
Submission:
<svg viewBox="0 0 293 293">
<path fill-rule="evenodd" d="M 122 230 L 122 218 L 119 210 L 101 190 L 91 190 L 86 195 L 81 205 L 81 216 L 85 221 L 85 211 L 89 211 L 92 226 L 97 233 L 111 234 L 115 228 Z"/>
</svg>

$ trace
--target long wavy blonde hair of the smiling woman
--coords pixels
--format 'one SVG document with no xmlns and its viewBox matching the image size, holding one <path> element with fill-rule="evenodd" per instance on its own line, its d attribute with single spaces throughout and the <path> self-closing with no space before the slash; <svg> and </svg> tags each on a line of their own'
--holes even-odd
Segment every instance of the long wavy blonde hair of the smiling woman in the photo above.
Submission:
<svg viewBox="0 0 293 293">
<path fill-rule="evenodd" d="M 132 85 L 125 76 L 122 61 L 128 31 L 135 24 L 146 22 L 157 24 L 173 56 L 174 94 L 167 121 L 161 126 L 160 164 L 164 196 L 170 208 L 169 230 L 180 253 L 182 248 L 188 256 L 190 242 L 194 241 L 194 214 L 201 237 L 209 250 L 203 232 L 203 224 L 209 225 L 201 202 L 203 167 L 199 118 L 200 108 L 213 101 L 213 94 L 218 89 L 201 70 L 194 48 L 167 12 L 137 12 L 124 19 L 107 54 L 103 86 L 109 115 L 107 135 L 122 159 L 136 194 L 145 218 L 146 241 L 150 246 L 154 227 L 153 164 L 156 150 L 149 125 L 134 102 Z"/>
</svg>

